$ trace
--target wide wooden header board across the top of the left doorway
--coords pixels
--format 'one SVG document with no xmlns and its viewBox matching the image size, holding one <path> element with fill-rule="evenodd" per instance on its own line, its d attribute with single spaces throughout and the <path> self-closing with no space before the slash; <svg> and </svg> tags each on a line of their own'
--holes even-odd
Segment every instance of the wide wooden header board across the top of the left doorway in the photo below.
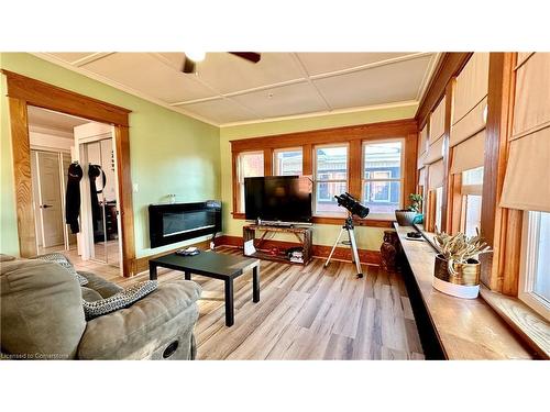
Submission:
<svg viewBox="0 0 550 412">
<path fill-rule="evenodd" d="M 1 69 L 8 80 L 8 97 L 28 104 L 59 111 L 97 122 L 129 126 L 131 110 L 89 98 L 16 73 Z"/>
</svg>

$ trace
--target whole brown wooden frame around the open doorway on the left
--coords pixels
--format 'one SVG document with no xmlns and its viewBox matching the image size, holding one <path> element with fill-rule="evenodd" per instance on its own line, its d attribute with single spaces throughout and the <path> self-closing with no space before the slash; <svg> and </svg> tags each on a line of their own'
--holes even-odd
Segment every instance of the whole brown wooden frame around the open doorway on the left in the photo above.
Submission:
<svg viewBox="0 0 550 412">
<path fill-rule="evenodd" d="M 37 254 L 35 221 L 32 202 L 31 145 L 29 141 L 28 107 L 36 105 L 73 114 L 97 122 L 112 124 L 117 153 L 120 219 L 122 229 L 122 274 L 135 274 L 135 244 L 130 176 L 130 110 L 58 88 L 9 70 L 7 77 L 10 131 L 13 147 L 15 207 L 21 257 Z"/>
</svg>

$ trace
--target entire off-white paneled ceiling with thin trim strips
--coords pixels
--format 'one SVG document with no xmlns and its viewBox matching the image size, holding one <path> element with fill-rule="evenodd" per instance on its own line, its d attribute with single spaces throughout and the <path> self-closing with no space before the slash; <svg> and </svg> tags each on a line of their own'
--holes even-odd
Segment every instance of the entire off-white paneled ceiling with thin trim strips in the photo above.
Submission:
<svg viewBox="0 0 550 412">
<path fill-rule="evenodd" d="M 38 57 L 216 125 L 418 102 L 436 53 L 41 53 Z"/>
</svg>

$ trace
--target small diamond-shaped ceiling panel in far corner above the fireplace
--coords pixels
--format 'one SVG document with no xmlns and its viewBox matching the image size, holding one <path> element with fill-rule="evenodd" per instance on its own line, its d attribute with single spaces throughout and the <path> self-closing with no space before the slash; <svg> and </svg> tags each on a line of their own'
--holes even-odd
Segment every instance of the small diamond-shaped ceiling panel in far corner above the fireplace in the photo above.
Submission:
<svg viewBox="0 0 550 412">
<path fill-rule="evenodd" d="M 177 107 L 217 123 L 242 122 L 257 119 L 253 112 L 230 99 L 215 99 Z"/>
</svg>

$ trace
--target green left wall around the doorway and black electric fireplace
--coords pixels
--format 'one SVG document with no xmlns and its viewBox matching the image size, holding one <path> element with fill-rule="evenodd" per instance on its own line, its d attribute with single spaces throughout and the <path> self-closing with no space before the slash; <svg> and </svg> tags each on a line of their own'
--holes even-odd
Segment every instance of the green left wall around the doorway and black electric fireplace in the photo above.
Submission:
<svg viewBox="0 0 550 412">
<path fill-rule="evenodd" d="M 150 203 L 167 201 L 167 193 L 176 193 L 177 201 L 220 199 L 218 127 L 147 102 L 30 54 L 0 54 L 0 67 L 132 111 L 130 114 L 130 156 L 132 181 L 139 185 L 139 191 L 133 193 L 138 257 L 177 246 L 170 245 L 154 250 L 150 248 L 147 218 Z M 1 78 L 0 250 L 16 255 L 19 243 L 11 140 L 8 125 L 6 78 L 4 76 Z M 132 190 L 132 188 L 127 188 L 127 190 Z"/>
</svg>

